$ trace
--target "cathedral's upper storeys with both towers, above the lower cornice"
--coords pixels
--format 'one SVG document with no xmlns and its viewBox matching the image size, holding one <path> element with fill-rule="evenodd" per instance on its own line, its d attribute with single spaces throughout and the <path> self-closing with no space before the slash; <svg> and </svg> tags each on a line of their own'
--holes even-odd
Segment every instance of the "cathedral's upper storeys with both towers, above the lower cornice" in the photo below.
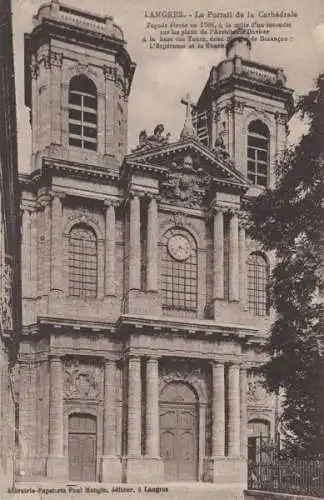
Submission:
<svg viewBox="0 0 324 500">
<path fill-rule="evenodd" d="M 57 1 L 26 35 L 24 323 L 126 314 L 265 331 L 274 259 L 246 238 L 242 208 L 274 182 L 292 99 L 283 71 L 251 62 L 236 33 L 197 105 L 185 101 L 179 139 L 159 124 L 126 154 L 125 44 L 111 17 Z"/>
</svg>

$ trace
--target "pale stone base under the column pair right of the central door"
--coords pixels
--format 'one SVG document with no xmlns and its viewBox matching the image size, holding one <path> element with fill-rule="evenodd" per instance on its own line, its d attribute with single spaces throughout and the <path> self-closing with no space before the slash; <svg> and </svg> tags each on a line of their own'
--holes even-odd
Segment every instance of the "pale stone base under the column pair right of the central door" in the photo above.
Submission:
<svg viewBox="0 0 324 500">
<path fill-rule="evenodd" d="M 237 484 L 247 488 L 247 462 L 244 458 L 206 457 L 204 481 L 216 484 Z"/>
</svg>

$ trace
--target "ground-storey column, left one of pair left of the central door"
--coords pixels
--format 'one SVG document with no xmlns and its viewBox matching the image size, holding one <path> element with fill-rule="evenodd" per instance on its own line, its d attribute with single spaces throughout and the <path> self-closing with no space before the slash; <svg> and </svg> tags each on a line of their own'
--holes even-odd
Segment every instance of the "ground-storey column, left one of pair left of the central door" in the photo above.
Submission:
<svg viewBox="0 0 324 500">
<path fill-rule="evenodd" d="M 128 456 L 141 455 L 141 358 L 128 361 Z"/>
</svg>

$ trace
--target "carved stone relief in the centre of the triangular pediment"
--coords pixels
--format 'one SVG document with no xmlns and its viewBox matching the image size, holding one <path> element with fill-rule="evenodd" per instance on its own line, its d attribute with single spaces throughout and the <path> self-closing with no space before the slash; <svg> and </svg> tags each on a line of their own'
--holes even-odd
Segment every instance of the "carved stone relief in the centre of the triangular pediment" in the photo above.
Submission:
<svg viewBox="0 0 324 500">
<path fill-rule="evenodd" d="M 181 163 L 173 162 L 168 178 L 161 184 L 161 196 L 189 208 L 200 207 L 211 176 L 187 155 Z"/>
</svg>

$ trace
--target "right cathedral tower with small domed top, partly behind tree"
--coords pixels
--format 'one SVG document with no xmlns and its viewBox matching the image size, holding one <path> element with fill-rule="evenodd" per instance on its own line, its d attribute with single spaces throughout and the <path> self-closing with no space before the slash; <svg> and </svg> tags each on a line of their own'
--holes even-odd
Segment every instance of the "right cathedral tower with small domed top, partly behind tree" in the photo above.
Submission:
<svg viewBox="0 0 324 500">
<path fill-rule="evenodd" d="M 250 194 L 274 184 L 274 165 L 285 146 L 292 90 L 282 69 L 251 60 L 251 41 L 237 30 L 226 59 L 210 71 L 197 103 L 208 119 L 210 146 L 225 147 L 236 168 L 252 184 Z"/>
</svg>

